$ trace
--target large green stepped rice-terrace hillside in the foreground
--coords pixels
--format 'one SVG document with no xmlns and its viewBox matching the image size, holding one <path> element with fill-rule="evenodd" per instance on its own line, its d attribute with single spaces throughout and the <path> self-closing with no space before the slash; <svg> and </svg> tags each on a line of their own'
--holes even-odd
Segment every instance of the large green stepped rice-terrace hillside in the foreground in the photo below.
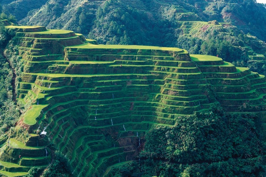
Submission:
<svg viewBox="0 0 266 177">
<path fill-rule="evenodd" d="M 65 30 L 15 27 L 24 71 L 17 100 L 33 102 L 2 145 L 2 175 L 23 176 L 53 161 L 50 142 L 70 160 L 73 175 L 102 176 L 139 160 L 143 136 L 154 124 L 208 109 L 265 110 L 266 80 L 221 58 L 186 50 L 98 45 Z M 40 132 L 46 131 L 42 138 Z M 19 158 L 19 155 L 22 157 Z"/>
</svg>

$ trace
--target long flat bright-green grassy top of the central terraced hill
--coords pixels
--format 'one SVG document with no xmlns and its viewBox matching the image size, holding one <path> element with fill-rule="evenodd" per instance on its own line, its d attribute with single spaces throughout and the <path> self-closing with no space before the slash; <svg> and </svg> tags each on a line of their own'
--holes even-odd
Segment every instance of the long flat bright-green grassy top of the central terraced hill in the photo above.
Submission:
<svg viewBox="0 0 266 177">
<path fill-rule="evenodd" d="M 169 50 L 177 52 L 187 52 L 184 49 L 176 47 L 157 47 L 157 46 L 146 46 L 146 45 L 93 45 L 85 43 L 82 45 L 69 46 L 70 48 L 81 48 L 81 49 L 147 49 L 147 50 Z"/>
</svg>

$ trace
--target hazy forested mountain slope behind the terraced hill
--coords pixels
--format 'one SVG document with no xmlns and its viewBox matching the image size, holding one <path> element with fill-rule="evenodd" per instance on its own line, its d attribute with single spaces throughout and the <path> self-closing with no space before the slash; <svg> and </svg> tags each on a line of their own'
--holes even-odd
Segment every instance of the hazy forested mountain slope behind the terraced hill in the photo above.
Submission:
<svg viewBox="0 0 266 177">
<path fill-rule="evenodd" d="M 49 0 L 27 17 L 18 9 L 27 1 L 3 3 L 20 24 L 73 30 L 101 44 L 184 48 L 266 74 L 266 9 L 253 0 Z"/>
</svg>

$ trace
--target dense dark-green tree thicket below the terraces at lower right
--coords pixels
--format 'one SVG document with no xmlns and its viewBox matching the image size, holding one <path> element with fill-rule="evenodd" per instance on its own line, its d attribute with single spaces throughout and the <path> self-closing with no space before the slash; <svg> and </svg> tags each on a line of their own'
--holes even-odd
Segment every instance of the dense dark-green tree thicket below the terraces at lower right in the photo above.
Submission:
<svg viewBox="0 0 266 177">
<path fill-rule="evenodd" d="M 145 136 L 140 161 L 114 167 L 109 176 L 264 176 L 265 141 L 252 114 L 226 114 L 217 104 L 206 112 L 176 117 Z"/>
</svg>

